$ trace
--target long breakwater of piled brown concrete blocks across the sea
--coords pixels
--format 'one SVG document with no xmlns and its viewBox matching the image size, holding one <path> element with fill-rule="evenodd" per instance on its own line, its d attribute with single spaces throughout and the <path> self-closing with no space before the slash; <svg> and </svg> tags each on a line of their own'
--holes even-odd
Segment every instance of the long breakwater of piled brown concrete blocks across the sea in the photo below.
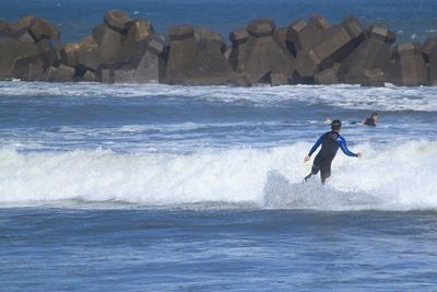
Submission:
<svg viewBox="0 0 437 292">
<path fill-rule="evenodd" d="M 0 21 L 0 80 L 184 85 L 385 83 L 437 85 L 437 37 L 395 44 L 383 25 L 354 16 L 330 24 L 320 14 L 276 27 L 255 19 L 229 33 L 191 24 L 155 33 L 145 19 L 104 14 L 88 36 L 61 44 L 59 30 L 28 15 Z"/>
</svg>

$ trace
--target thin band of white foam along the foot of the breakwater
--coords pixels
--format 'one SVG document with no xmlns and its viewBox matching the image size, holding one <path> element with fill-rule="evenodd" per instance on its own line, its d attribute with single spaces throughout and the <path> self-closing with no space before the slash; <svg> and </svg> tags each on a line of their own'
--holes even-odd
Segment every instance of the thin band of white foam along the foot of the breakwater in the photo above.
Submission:
<svg viewBox="0 0 437 292">
<path fill-rule="evenodd" d="M 247 101 L 256 105 L 297 101 L 342 108 L 380 110 L 437 110 L 437 87 L 361 87 L 358 85 L 176 86 L 164 84 L 98 84 L 0 82 L 0 96 L 37 97 L 188 97 L 220 103 Z"/>
</svg>

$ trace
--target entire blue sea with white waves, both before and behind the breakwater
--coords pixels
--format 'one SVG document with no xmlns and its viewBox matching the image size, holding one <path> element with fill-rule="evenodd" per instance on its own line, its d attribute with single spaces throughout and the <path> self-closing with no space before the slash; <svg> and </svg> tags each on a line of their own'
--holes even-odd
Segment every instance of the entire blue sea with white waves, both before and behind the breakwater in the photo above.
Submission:
<svg viewBox="0 0 437 292">
<path fill-rule="evenodd" d="M 403 40 L 437 28 L 435 1 L 25 0 L 0 17 L 74 42 L 109 8 L 163 33 L 315 11 Z M 304 185 L 326 118 L 364 157 Z M 436 125 L 436 87 L 0 82 L 0 291 L 435 291 Z"/>
</svg>

